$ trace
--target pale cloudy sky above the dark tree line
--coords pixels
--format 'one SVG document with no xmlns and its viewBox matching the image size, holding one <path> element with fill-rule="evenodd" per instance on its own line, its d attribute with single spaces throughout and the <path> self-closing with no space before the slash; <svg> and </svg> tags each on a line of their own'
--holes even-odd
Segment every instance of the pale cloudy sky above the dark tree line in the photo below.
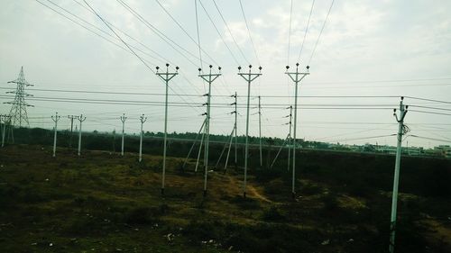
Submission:
<svg viewBox="0 0 451 253">
<path fill-rule="evenodd" d="M 298 138 L 395 145 L 392 109 L 403 95 L 403 145 L 451 144 L 450 1 L 242 0 L 243 11 L 239 0 L 0 1 L 0 113 L 23 66 L 32 127 L 51 129 L 58 112 L 65 130 L 67 115 L 83 113 L 86 131 L 121 131 L 125 113 L 128 134 L 142 114 L 144 131 L 163 131 L 165 84 L 154 71 L 170 63 L 179 75 L 168 131 L 198 131 L 208 92 L 198 68 L 212 65 L 222 76 L 212 83 L 210 132 L 233 130 L 236 92 L 242 135 L 248 84 L 237 67 L 252 65 L 262 76 L 251 84 L 249 133 L 259 134 L 260 95 L 262 136 L 285 138 L 295 103 L 285 66 L 299 62 L 300 72 L 310 68 L 299 83 Z"/>
</svg>

